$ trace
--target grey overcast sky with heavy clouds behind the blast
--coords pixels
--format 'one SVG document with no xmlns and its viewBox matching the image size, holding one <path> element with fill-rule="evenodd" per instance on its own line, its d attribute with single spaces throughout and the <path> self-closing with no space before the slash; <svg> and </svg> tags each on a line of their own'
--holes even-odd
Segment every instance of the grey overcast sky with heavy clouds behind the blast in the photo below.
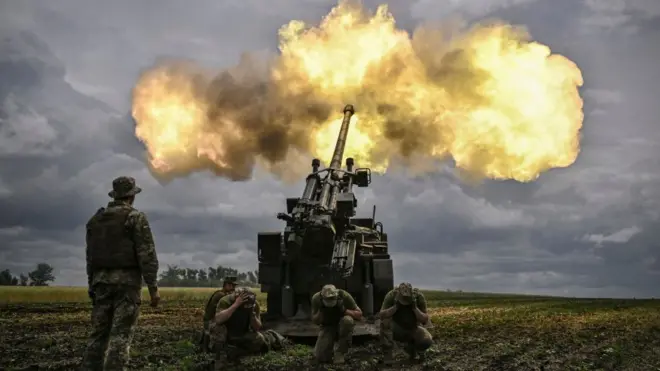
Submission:
<svg viewBox="0 0 660 371">
<path fill-rule="evenodd" d="M 268 3 L 268 6 L 264 4 Z M 366 1 L 369 6 L 377 1 Z M 194 4 L 194 5 L 192 5 Z M 526 25 L 585 78 L 582 151 L 533 183 L 461 184 L 450 169 L 358 189 L 389 233 L 395 280 L 425 288 L 660 296 L 660 1 L 392 0 L 400 27 L 461 16 Z M 161 267 L 256 269 L 287 188 L 267 174 L 161 185 L 129 120 L 130 90 L 162 56 L 209 66 L 277 46 L 326 0 L 0 0 L 0 269 L 38 262 L 85 283 L 83 225 L 111 181 L 134 176 Z"/>
</svg>

